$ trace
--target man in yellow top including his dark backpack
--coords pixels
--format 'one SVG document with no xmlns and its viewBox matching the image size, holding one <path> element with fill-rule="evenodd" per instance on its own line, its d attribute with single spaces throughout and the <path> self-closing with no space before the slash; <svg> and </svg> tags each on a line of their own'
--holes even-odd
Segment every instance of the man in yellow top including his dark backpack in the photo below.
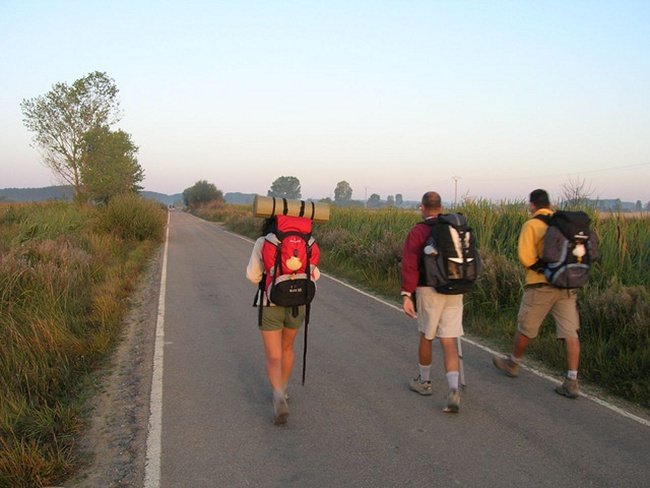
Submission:
<svg viewBox="0 0 650 488">
<path fill-rule="evenodd" d="M 567 373 L 555 391 L 577 398 L 580 362 L 580 317 L 577 290 L 587 280 L 591 262 L 598 257 L 598 241 L 589 230 L 584 212 L 553 212 L 545 190 L 530 193 L 528 219 L 519 234 L 519 261 L 526 268 L 526 285 L 517 315 L 512 353 L 492 358 L 494 366 L 514 378 L 522 356 L 550 313 L 556 337 L 564 341 Z M 563 234 L 566 234 L 563 236 Z"/>
</svg>

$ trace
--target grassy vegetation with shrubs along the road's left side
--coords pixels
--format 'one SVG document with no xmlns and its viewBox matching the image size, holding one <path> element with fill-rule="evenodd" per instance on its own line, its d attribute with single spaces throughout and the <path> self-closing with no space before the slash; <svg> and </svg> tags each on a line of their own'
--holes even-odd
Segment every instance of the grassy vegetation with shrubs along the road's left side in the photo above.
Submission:
<svg viewBox="0 0 650 488">
<path fill-rule="evenodd" d="M 74 472 L 92 372 L 165 223 L 135 194 L 96 207 L 0 204 L 0 487 Z"/>
</svg>

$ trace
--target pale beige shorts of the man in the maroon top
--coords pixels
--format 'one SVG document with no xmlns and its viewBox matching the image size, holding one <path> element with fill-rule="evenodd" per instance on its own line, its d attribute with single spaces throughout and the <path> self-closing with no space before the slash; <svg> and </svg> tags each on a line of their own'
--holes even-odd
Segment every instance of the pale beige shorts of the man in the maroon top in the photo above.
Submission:
<svg viewBox="0 0 650 488">
<path fill-rule="evenodd" d="M 463 295 L 443 295 L 430 286 L 415 290 L 418 330 L 428 340 L 463 335 Z"/>
</svg>

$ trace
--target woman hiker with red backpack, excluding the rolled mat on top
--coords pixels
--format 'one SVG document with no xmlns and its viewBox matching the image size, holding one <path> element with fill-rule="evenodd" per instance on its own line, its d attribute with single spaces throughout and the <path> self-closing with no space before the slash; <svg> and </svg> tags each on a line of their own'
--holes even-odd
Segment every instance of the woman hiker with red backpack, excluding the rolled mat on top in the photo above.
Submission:
<svg viewBox="0 0 650 488">
<path fill-rule="evenodd" d="M 286 203 L 285 203 L 286 209 Z M 266 218 L 255 241 L 246 277 L 259 284 L 256 303 L 258 326 L 266 356 L 266 372 L 273 389 L 276 425 L 289 416 L 287 384 L 294 364 L 294 342 L 309 321 L 309 307 L 320 277 L 320 252 L 311 237 L 311 220 L 277 215 Z M 303 356 L 303 383 L 304 383 Z"/>
</svg>

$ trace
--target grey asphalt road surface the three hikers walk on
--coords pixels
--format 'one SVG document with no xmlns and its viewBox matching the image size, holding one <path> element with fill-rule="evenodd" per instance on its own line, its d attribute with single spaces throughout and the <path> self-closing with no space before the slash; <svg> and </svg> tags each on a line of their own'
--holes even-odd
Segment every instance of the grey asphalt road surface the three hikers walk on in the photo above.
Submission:
<svg viewBox="0 0 650 488">
<path fill-rule="evenodd" d="M 465 346 L 461 413 L 410 392 L 415 323 L 328 277 L 312 309 L 307 381 L 272 424 L 244 276 L 252 243 L 172 213 L 165 300 L 160 486 L 648 486 L 650 428 L 524 371 L 498 374 Z M 301 341 L 301 337 L 299 342 Z M 301 347 L 297 348 L 300 356 Z"/>
</svg>

